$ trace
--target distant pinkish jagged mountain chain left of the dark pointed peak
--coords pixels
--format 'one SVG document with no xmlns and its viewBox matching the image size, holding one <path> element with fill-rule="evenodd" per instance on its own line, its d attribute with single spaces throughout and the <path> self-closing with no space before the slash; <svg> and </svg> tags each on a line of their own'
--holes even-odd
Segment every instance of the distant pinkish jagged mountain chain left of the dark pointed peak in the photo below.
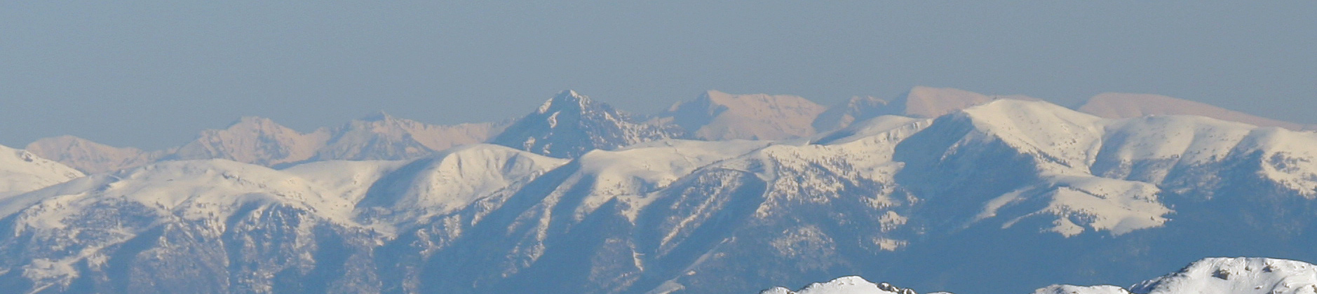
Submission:
<svg viewBox="0 0 1317 294">
<path fill-rule="evenodd" d="M 337 127 L 298 133 L 269 118 L 244 117 L 223 130 L 169 150 L 111 147 L 76 136 L 43 138 L 28 150 L 87 173 L 134 168 L 158 160 L 227 159 L 267 167 L 323 160 L 403 160 L 487 140 L 506 123 L 428 125 L 378 113 Z"/>
</svg>

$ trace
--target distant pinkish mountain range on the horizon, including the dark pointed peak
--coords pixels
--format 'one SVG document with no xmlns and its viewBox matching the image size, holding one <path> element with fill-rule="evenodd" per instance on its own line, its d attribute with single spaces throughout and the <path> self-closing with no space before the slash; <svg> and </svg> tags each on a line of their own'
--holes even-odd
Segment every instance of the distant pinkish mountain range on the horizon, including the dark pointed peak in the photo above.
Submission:
<svg viewBox="0 0 1317 294">
<path fill-rule="evenodd" d="M 709 91 L 695 100 L 673 104 L 658 114 L 635 116 L 573 91 L 565 91 L 545 101 L 535 113 L 499 122 L 428 125 L 381 112 L 341 126 L 321 127 L 303 134 L 269 118 L 244 117 L 225 129 L 204 130 L 194 140 L 166 150 L 112 147 L 70 135 L 38 139 L 25 150 L 86 173 L 112 172 L 159 160 L 228 159 L 267 167 L 321 160 L 406 160 L 482 142 L 523 150 L 541 148 L 536 152 L 574 158 L 593 148 L 610 150 L 668 138 L 701 140 L 809 138 L 880 116 L 932 118 L 994 100 L 1040 101 L 1022 94 L 988 96 L 954 88 L 914 87 L 890 100 L 852 97 L 838 105 L 822 106 L 799 96 L 730 94 Z M 1158 94 L 1102 93 L 1077 106 L 1076 110 L 1105 118 L 1202 116 L 1255 126 L 1317 130 L 1314 125 L 1281 122 Z M 564 116 L 564 119 L 577 119 L 564 123 L 564 127 L 577 130 L 561 127 L 551 130 L 554 129 L 551 126 L 554 123 L 552 119 L 557 119 L 554 114 Z M 519 123 L 520 127 L 504 131 L 514 123 Z M 573 131 L 577 135 L 599 135 L 601 139 L 574 147 L 569 147 L 574 143 L 560 143 L 554 147 L 545 142 L 531 143 L 527 147 L 528 140 L 535 136 L 569 136 L 568 133 Z M 497 138 L 499 135 L 504 138 Z M 544 146 L 556 151 L 543 150 Z"/>
</svg>

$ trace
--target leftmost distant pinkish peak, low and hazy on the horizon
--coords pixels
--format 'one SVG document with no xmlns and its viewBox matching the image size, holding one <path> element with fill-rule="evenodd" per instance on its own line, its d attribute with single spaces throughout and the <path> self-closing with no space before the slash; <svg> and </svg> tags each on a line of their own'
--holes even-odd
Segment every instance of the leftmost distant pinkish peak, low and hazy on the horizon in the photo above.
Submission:
<svg viewBox="0 0 1317 294">
<path fill-rule="evenodd" d="M 42 138 L 32 142 L 25 148 L 37 156 L 63 163 L 86 173 L 140 167 L 171 152 L 148 152 L 132 147 L 112 147 L 71 135 Z"/>
</svg>

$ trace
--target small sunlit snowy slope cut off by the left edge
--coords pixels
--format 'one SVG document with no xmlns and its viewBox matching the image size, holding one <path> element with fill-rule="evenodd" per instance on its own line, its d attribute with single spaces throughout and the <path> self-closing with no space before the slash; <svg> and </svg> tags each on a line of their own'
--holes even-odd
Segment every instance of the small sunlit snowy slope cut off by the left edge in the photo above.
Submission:
<svg viewBox="0 0 1317 294">
<path fill-rule="evenodd" d="M 0 200 L 65 182 L 83 173 L 24 150 L 0 146 Z"/>
</svg>

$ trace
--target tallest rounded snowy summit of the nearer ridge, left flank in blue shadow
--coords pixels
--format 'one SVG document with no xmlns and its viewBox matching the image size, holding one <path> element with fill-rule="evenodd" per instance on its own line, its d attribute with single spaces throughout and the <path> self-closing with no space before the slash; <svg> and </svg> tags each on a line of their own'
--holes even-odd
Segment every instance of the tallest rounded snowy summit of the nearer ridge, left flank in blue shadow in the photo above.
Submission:
<svg viewBox="0 0 1317 294">
<path fill-rule="evenodd" d="M 1000 100 L 935 119 L 902 142 L 898 151 L 905 152 L 897 158 L 911 178 L 923 178 L 910 184 L 931 201 L 981 201 L 979 211 L 952 213 L 975 215 L 965 223 L 1036 223 L 1067 238 L 1162 226 L 1171 210 L 1158 200 L 1155 185 L 1092 175 L 1105 123 L 1048 102 Z M 981 167 L 985 161 L 994 167 Z"/>
</svg>

